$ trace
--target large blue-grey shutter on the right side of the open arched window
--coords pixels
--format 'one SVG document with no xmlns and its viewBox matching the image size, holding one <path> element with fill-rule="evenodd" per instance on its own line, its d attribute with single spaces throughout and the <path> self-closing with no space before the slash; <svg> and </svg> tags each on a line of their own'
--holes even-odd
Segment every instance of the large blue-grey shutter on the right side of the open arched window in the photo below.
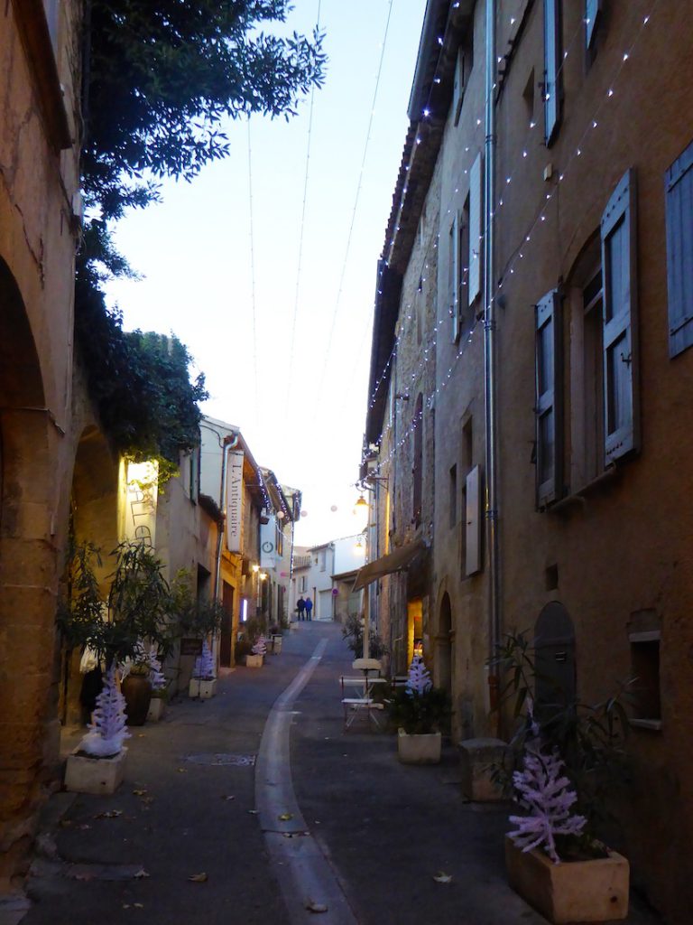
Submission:
<svg viewBox="0 0 693 925">
<path fill-rule="evenodd" d="M 635 171 L 620 179 L 602 215 L 604 462 L 638 449 Z"/>
</svg>

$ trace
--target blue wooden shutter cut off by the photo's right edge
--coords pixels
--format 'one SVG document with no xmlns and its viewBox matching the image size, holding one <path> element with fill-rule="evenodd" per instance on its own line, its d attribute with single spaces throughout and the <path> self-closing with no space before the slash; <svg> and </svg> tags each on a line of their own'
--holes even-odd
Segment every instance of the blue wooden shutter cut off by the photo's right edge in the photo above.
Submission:
<svg viewBox="0 0 693 925">
<path fill-rule="evenodd" d="M 693 144 L 669 167 L 666 190 L 666 278 L 669 356 L 693 344 Z"/>
</svg>

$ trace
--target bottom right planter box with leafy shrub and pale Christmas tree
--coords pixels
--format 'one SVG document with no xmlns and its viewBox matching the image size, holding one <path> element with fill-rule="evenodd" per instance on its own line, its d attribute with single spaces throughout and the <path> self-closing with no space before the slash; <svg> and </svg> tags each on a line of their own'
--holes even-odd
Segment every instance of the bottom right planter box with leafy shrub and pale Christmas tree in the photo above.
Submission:
<svg viewBox="0 0 693 925">
<path fill-rule="evenodd" d="M 625 919 L 628 862 L 597 836 L 610 786 L 625 772 L 623 687 L 589 706 L 553 685 L 553 702 L 535 708 L 540 675 L 527 635 L 506 635 L 494 662 L 506 672 L 504 699 L 514 699 L 518 721 L 511 767 L 498 769 L 520 810 L 505 838 L 511 886 L 555 923 Z"/>
</svg>

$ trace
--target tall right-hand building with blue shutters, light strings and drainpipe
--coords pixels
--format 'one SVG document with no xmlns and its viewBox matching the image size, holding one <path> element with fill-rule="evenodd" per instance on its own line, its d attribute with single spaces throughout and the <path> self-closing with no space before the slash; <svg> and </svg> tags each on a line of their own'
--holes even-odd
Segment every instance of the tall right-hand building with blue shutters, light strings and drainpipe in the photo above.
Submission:
<svg viewBox="0 0 693 925">
<path fill-rule="evenodd" d="M 509 734 L 488 667 L 505 632 L 527 630 L 586 704 L 636 679 L 614 840 L 675 922 L 693 900 L 691 37 L 646 0 L 430 0 L 361 471 L 377 619 L 401 626 L 423 583 L 422 650 L 456 741 Z M 424 240 L 436 269 L 418 340 Z M 430 572 L 388 558 L 418 536 L 416 440 L 395 410 L 419 389 Z M 388 633 L 396 665 L 402 632 Z"/>
</svg>

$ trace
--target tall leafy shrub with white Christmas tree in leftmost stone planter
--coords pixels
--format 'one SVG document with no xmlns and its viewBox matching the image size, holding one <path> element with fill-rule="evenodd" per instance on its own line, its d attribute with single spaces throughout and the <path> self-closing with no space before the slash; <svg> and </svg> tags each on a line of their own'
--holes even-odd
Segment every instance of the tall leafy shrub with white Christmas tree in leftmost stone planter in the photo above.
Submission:
<svg viewBox="0 0 693 925">
<path fill-rule="evenodd" d="M 122 780 L 127 753 L 119 725 L 121 717 L 126 722 L 127 716 L 120 690 L 122 666 L 142 660 L 142 639 L 151 640 L 160 650 L 171 642 L 171 596 L 161 562 L 143 544 L 123 543 L 111 555 L 116 567 L 104 580 L 107 590 L 102 592 L 95 573 L 95 567 L 102 564 L 99 550 L 89 543 L 71 549 L 67 598 L 58 611 L 67 646 L 89 649 L 105 672 L 90 733 L 67 759 L 70 788 L 84 786 L 90 788 L 88 793 L 111 792 L 103 788 L 117 786 Z M 149 688 L 148 679 L 145 682 Z M 107 771 L 104 761 L 117 765 L 118 770 Z M 75 770 L 78 765 L 79 773 Z M 90 767 L 96 783 L 88 779 Z"/>
</svg>

